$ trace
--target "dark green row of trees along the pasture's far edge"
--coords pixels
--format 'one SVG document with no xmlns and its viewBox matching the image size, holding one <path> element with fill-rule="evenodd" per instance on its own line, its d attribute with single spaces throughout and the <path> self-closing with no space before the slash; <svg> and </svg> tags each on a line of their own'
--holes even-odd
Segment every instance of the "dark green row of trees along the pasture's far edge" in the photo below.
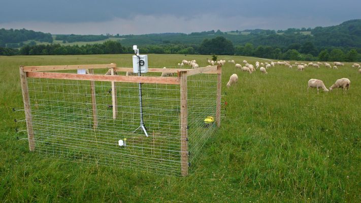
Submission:
<svg viewBox="0 0 361 203">
<path fill-rule="evenodd" d="M 244 55 L 261 58 L 283 60 L 319 60 L 319 61 L 360 61 L 361 56 L 355 49 L 344 52 L 341 49 L 325 48 L 318 50 L 310 43 L 291 46 L 289 49 L 271 46 L 254 47 L 251 43 L 244 46 L 233 46 L 232 42 L 223 37 L 206 39 L 201 45 L 146 45 L 141 47 L 142 53 L 155 54 L 216 54 L 216 55 Z M 103 44 L 84 46 L 26 45 L 20 50 L 0 48 L 0 55 L 76 55 L 76 54 L 120 54 L 133 53 L 131 46 L 122 46 L 119 41 L 107 41 Z"/>
</svg>

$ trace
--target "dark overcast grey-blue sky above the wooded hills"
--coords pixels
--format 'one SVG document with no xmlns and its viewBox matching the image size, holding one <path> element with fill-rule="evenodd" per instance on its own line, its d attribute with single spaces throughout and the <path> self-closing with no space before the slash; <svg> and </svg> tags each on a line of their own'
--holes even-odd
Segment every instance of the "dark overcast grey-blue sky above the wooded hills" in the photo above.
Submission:
<svg viewBox="0 0 361 203">
<path fill-rule="evenodd" d="M 337 25 L 361 19 L 361 0 L 0 0 L 0 28 L 120 35 Z"/>
</svg>

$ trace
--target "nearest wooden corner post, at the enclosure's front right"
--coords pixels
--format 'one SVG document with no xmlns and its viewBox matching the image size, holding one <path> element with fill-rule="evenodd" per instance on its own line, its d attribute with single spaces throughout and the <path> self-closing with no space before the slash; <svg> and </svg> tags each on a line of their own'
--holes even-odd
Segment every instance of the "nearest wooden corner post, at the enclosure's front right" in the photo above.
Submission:
<svg viewBox="0 0 361 203">
<path fill-rule="evenodd" d="M 188 175 L 187 72 L 180 72 L 181 174 Z"/>
</svg>

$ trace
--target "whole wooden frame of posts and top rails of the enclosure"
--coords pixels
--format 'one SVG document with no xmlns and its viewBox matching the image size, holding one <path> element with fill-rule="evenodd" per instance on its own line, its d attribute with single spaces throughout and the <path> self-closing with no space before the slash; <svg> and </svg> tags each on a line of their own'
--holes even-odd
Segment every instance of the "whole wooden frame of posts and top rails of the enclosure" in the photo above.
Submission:
<svg viewBox="0 0 361 203">
<path fill-rule="evenodd" d="M 88 69 L 88 74 L 72 74 L 72 73 L 49 73 L 46 71 L 69 71 Z M 111 75 L 94 74 L 94 69 L 110 70 Z M 97 113 L 96 113 L 96 95 L 94 81 L 112 82 L 112 101 L 113 101 L 113 119 L 116 119 L 116 89 L 115 82 L 129 83 L 156 83 L 156 84 L 173 84 L 180 86 L 180 144 L 181 144 L 181 175 L 188 175 L 188 115 L 187 115 L 187 77 L 196 74 L 217 74 L 217 98 L 216 98 L 216 125 L 220 126 L 220 108 L 221 108 L 221 75 L 220 65 L 200 67 L 198 69 L 161 69 L 149 68 L 151 73 L 177 73 L 177 77 L 149 77 L 149 76 L 120 76 L 115 75 L 117 72 L 133 72 L 131 67 L 117 67 L 115 63 L 111 64 L 82 64 L 82 65 L 46 65 L 46 66 L 20 66 L 21 90 L 25 110 L 25 120 L 27 127 L 27 137 L 29 141 L 29 150 L 35 151 L 35 137 L 32 130 L 32 115 L 30 98 L 28 92 L 27 78 L 49 78 L 49 79 L 65 79 L 65 80 L 86 80 L 90 81 L 93 128 L 96 129 Z"/>
</svg>

